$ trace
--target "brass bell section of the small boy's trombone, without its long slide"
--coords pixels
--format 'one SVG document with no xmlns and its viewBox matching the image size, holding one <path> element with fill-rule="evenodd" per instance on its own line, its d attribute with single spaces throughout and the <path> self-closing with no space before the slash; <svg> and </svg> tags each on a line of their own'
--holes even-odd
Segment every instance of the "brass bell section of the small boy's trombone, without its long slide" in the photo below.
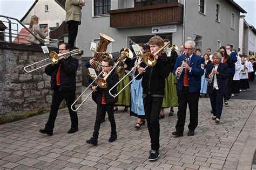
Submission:
<svg viewBox="0 0 256 170">
<path fill-rule="evenodd" d="M 114 68 L 116 68 L 119 65 L 119 62 L 122 62 L 122 60 L 125 59 L 126 57 L 130 59 L 132 59 L 133 57 L 132 51 L 129 48 L 124 48 L 124 54 L 120 56 L 119 59 L 117 59 L 117 62 L 114 64 L 110 72 L 104 78 L 96 79 L 96 83 L 100 88 L 103 88 L 103 89 L 107 88 L 107 82 L 106 82 L 107 77 L 109 77 L 109 75 L 112 73 Z"/>
</svg>

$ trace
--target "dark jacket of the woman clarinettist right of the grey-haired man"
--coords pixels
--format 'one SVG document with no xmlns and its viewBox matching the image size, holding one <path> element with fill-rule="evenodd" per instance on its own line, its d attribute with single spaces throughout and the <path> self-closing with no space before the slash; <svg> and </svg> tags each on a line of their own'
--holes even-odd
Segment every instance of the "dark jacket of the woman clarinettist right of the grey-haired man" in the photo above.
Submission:
<svg viewBox="0 0 256 170">
<path fill-rule="evenodd" d="M 205 73 L 205 78 L 209 78 L 209 74 L 212 72 L 213 68 L 213 63 L 207 66 L 206 73 Z M 228 78 L 228 66 L 226 63 L 219 63 L 219 66 L 217 68 L 217 71 L 219 72 L 219 75 L 214 75 L 217 76 L 217 83 L 218 83 L 218 88 L 219 92 L 221 94 L 226 94 L 227 93 L 227 83 L 226 79 Z M 213 79 L 214 80 L 214 77 Z M 211 86 L 207 87 L 207 94 L 212 94 L 213 91 L 213 82 L 211 83 Z"/>
</svg>

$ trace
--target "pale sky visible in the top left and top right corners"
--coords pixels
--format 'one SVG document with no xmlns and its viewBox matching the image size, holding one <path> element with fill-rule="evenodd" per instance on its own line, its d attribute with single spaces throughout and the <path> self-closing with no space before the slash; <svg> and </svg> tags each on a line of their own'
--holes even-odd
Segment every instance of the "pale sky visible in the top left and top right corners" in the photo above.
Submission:
<svg viewBox="0 0 256 170">
<path fill-rule="evenodd" d="M 40 0 L 39 0 L 40 1 Z M 52 0 L 53 1 L 53 0 Z M 87 0 L 92 1 L 92 0 Z M 133 0 L 129 0 L 133 1 Z M 207 0 L 210 1 L 210 0 Z M 224 0 L 220 0 L 224 1 Z M 256 0 L 234 0 L 238 5 L 240 5 L 247 13 L 240 15 L 245 15 L 245 20 L 247 23 L 256 27 Z M 35 2 L 35 0 L 0 0 L 0 15 L 14 17 L 21 19 L 25 13 L 29 10 L 30 6 Z M 0 18 L 2 19 L 2 18 Z"/>
</svg>

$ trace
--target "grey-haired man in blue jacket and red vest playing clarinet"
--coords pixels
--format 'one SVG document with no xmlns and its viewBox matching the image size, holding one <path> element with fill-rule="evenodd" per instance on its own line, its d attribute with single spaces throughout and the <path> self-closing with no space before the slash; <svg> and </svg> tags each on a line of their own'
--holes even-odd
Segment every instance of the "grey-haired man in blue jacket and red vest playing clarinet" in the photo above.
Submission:
<svg viewBox="0 0 256 170">
<path fill-rule="evenodd" d="M 193 54 L 194 41 L 185 42 L 185 54 L 178 57 L 174 66 L 173 74 L 181 75 L 178 79 L 178 121 L 176 131 L 173 135 L 183 136 L 187 103 L 190 108 L 190 124 L 188 125 L 188 136 L 194 135 L 194 130 L 198 125 L 198 101 L 201 89 L 201 76 L 204 75 L 204 58 Z M 186 62 L 183 62 L 187 56 Z"/>
</svg>

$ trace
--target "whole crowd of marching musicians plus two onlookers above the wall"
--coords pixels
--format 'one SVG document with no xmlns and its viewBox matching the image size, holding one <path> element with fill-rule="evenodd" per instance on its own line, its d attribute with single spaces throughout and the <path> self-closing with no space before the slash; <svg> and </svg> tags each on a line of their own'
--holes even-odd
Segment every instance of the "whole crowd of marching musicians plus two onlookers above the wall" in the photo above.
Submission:
<svg viewBox="0 0 256 170">
<path fill-rule="evenodd" d="M 77 1 L 76 4 L 66 1 L 66 12 L 69 25 L 69 43 L 59 45 L 59 53 L 67 53 L 76 49 L 74 42 L 77 36 L 77 29 L 80 23 L 80 9 L 84 5 L 84 0 Z M 78 12 L 79 15 L 74 17 L 72 13 Z M 31 18 L 30 29 L 38 30 L 38 17 Z M 38 32 L 39 33 L 39 32 Z M 41 37 L 46 37 L 48 29 L 39 33 Z M 43 41 L 43 39 L 41 39 Z M 41 42 L 36 42 L 36 44 Z M 177 52 L 170 48 L 171 52 L 164 51 L 166 44 L 170 40 L 163 40 L 159 36 L 152 37 L 147 46 L 139 44 L 142 53 L 150 51 L 154 54 L 155 65 L 147 67 L 147 63 L 141 62 L 142 56 L 134 56 L 132 59 L 123 58 L 118 60 L 116 67 L 112 58 L 105 57 L 101 61 L 102 72 L 99 78 L 106 81 L 107 86 L 101 87 L 89 77 L 89 83 L 92 83 L 92 99 L 97 104 L 96 121 L 92 137 L 86 140 L 86 143 L 98 145 L 100 124 L 105 122 L 107 112 L 111 124 L 111 133 L 109 142 L 116 141 L 117 127 L 114 119 L 114 113 L 118 111 L 118 106 L 124 106 L 123 112 L 130 108 L 130 115 L 138 117 L 134 128 L 140 129 L 147 123 L 147 129 L 150 134 L 151 149 L 149 160 L 159 158 L 159 138 L 160 138 L 160 118 L 165 118 L 164 109 L 169 109 L 169 116 L 173 116 L 174 107 L 178 107 L 176 131 L 172 134 L 176 137 L 183 136 L 186 120 L 186 109 L 190 110 L 190 123 L 188 124 L 188 136 L 194 136 L 194 131 L 198 126 L 198 104 L 200 96 L 210 97 L 212 119 L 219 124 L 223 105 L 228 105 L 228 100 L 240 92 L 250 88 L 249 82 L 254 81 L 256 70 L 255 56 L 250 54 L 238 55 L 232 45 L 221 46 L 216 52 L 211 54 L 211 48 L 206 49 L 206 53 L 201 55 L 201 49 L 196 47 L 194 41 L 188 40 L 184 45 L 180 45 Z M 125 48 L 120 50 L 120 55 L 124 55 Z M 85 67 L 89 68 L 95 59 L 88 60 Z M 68 105 L 71 118 L 71 128 L 68 133 L 78 131 L 78 116 L 71 108 L 75 102 L 76 91 L 76 71 L 78 60 L 76 58 L 63 58 L 59 63 L 48 65 L 45 73 L 51 76 L 51 90 L 53 90 L 52 104 L 48 122 L 44 129 L 39 132 L 53 135 L 55 120 L 60 103 L 63 99 Z M 136 69 L 133 69 L 136 68 Z M 117 71 L 118 70 L 118 71 Z M 132 74 L 126 76 L 125 71 L 133 70 Z M 125 77 L 126 76 L 126 77 Z M 131 79 L 134 81 L 125 88 Z M 124 80 L 118 84 L 120 79 Z M 113 88 L 113 94 L 121 92 L 118 97 L 110 95 L 109 91 Z M 210 111 L 209 111 L 210 112 Z"/>
</svg>

